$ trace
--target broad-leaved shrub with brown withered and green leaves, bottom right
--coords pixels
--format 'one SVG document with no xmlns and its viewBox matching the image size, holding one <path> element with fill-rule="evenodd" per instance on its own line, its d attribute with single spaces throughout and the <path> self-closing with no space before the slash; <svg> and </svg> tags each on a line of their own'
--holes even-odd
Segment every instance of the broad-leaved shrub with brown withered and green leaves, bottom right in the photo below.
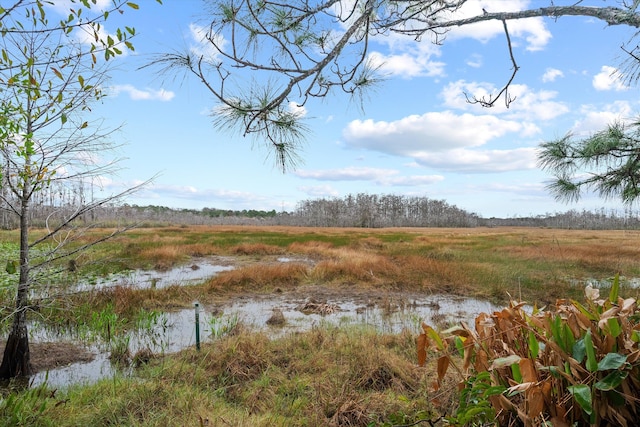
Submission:
<svg viewBox="0 0 640 427">
<path fill-rule="evenodd" d="M 554 310 L 512 302 L 467 325 L 418 337 L 418 362 L 437 356 L 437 381 L 450 366 L 460 378 L 453 424 L 474 415 L 500 425 L 635 425 L 640 395 L 640 311 L 634 298 L 586 289 L 586 304 L 562 299 Z M 459 357 L 458 357 L 459 356 Z"/>
</svg>

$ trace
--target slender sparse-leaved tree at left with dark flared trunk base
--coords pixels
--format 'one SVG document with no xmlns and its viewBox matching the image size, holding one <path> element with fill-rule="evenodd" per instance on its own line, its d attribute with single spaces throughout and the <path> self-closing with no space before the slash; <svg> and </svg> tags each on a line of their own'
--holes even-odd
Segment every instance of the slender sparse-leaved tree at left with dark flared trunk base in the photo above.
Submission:
<svg viewBox="0 0 640 427">
<path fill-rule="evenodd" d="M 67 246 L 82 232 L 82 228 L 73 226 L 74 220 L 138 188 L 101 199 L 78 199 L 73 210 L 53 212 L 44 233 L 35 239 L 30 235 L 32 205 L 41 192 L 52 185 L 61 190 L 78 188 L 91 178 L 114 170 L 117 158 L 104 157 L 115 148 L 109 139 L 113 131 L 102 129 L 99 120 L 88 121 L 86 116 L 91 103 L 103 96 L 101 88 L 107 77 L 107 63 L 96 58 L 96 52 L 101 51 L 108 60 L 122 53 L 121 49 L 131 48 L 120 30 L 115 38 L 99 37 L 108 11 L 95 11 L 94 18 L 89 18 L 89 7 L 95 1 L 72 0 L 69 18 L 62 22 L 52 20 L 58 22 L 54 26 L 47 19 L 46 3 L 16 1 L 12 8 L 0 10 L 0 154 L 6 186 L 0 197 L 20 223 L 15 309 L 0 378 L 31 373 L 27 312 L 35 284 L 33 273 L 122 231 L 113 230 L 73 249 Z M 114 10 L 124 5 L 137 9 L 134 3 L 112 2 Z M 94 43 L 85 45 L 74 31 L 89 31 L 95 36 Z M 126 32 L 135 33 L 133 28 Z M 42 255 L 32 259 L 32 251 L 38 245 L 44 248 Z"/>
</svg>

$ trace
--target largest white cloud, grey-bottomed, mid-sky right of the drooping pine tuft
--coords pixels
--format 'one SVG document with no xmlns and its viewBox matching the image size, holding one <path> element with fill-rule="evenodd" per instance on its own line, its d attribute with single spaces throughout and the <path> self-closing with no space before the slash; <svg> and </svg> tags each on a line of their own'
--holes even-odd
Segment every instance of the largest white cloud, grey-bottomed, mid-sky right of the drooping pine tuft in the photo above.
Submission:
<svg viewBox="0 0 640 427">
<path fill-rule="evenodd" d="M 411 115 L 400 120 L 354 120 L 343 130 L 346 144 L 399 156 L 477 147 L 524 129 L 521 123 L 491 115 L 450 111 Z"/>
</svg>

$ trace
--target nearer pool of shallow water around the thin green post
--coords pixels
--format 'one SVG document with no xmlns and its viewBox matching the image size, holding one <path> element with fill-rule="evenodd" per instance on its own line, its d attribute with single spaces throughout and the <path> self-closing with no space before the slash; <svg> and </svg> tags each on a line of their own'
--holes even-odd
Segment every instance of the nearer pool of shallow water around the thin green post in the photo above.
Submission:
<svg viewBox="0 0 640 427">
<path fill-rule="evenodd" d="M 334 307 L 327 314 L 303 313 L 300 309 L 308 302 L 305 299 L 284 295 L 262 298 L 242 298 L 224 306 L 200 308 L 201 342 L 211 342 L 222 335 L 220 328 L 232 327 L 236 322 L 257 331 L 263 331 L 271 337 L 288 333 L 310 330 L 320 325 L 368 325 L 384 333 L 399 333 L 408 329 L 418 333 L 420 324 L 445 326 L 465 321 L 472 323 L 481 312 L 499 310 L 486 301 L 458 298 L 444 295 L 407 295 L 388 293 L 375 302 L 356 300 L 326 300 L 323 304 Z M 284 316 L 282 326 L 270 326 L 269 318 L 274 310 L 280 310 Z M 50 332 L 32 328 L 33 342 L 46 342 L 54 338 Z M 65 339 L 58 336 L 57 340 Z M 128 337 L 132 354 L 138 350 L 149 349 L 154 353 L 172 353 L 194 346 L 195 311 L 194 309 L 164 313 L 156 322 L 152 331 L 132 332 Z M 96 354 L 93 361 L 75 363 L 45 373 L 36 374 L 32 381 L 42 384 L 45 380 L 51 387 L 60 388 L 73 383 L 87 383 L 114 375 L 129 374 L 114 366 L 109 360 L 109 345 L 100 344 L 90 347 Z"/>
</svg>

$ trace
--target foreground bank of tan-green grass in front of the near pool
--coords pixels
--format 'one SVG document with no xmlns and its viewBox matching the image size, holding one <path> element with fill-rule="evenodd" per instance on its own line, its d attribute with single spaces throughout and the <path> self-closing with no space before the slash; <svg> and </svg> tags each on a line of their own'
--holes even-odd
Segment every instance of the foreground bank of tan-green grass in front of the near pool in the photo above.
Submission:
<svg viewBox="0 0 640 427">
<path fill-rule="evenodd" d="M 425 370 L 406 357 L 414 347 L 411 334 L 362 328 L 316 328 L 277 340 L 225 336 L 162 365 L 151 360 L 141 380 L 71 388 L 59 396 L 66 405 L 50 405 L 39 425 L 367 426 L 398 414 L 415 420 L 410 414 L 424 414 L 429 404 Z"/>
</svg>

